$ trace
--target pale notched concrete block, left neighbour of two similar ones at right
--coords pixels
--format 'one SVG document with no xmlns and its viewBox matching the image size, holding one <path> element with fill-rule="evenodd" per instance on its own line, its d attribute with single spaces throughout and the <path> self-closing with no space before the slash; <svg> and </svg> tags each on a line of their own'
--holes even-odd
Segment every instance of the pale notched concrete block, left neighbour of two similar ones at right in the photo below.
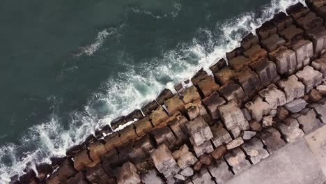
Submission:
<svg viewBox="0 0 326 184">
<path fill-rule="evenodd" d="M 277 89 L 275 84 L 270 84 L 267 89 L 259 91 L 259 95 L 261 95 L 261 98 L 265 99 L 265 101 L 270 104 L 272 109 L 277 109 L 277 107 L 286 104 L 286 95 L 283 93 L 283 91 Z"/>
</svg>

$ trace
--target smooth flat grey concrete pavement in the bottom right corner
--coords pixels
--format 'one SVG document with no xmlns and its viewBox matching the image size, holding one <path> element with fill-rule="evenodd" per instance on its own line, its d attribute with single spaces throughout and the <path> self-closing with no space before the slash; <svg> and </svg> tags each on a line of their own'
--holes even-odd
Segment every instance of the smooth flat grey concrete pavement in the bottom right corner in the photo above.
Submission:
<svg viewBox="0 0 326 184">
<path fill-rule="evenodd" d="M 325 130 L 321 131 L 325 132 Z M 318 154 L 315 154 L 320 155 L 320 146 L 317 147 Z M 322 150 L 326 151 L 325 147 Z M 323 155 L 320 157 L 323 158 Z M 306 139 L 300 138 L 235 176 L 228 181 L 228 184 L 322 184 L 326 181 L 326 177 L 318 161 L 325 164 L 325 158 L 323 159 L 322 161 L 317 159 Z"/>
</svg>

